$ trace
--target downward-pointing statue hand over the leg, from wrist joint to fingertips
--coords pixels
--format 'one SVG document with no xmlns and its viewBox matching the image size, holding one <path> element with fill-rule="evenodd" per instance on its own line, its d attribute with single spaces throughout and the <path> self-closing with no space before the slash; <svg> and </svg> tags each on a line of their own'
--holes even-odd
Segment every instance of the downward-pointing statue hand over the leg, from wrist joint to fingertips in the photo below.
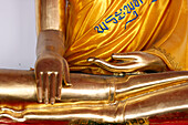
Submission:
<svg viewBox="0 0 188 125">
<path fill-rule="evenodd" d="M 54 104 L 61 98 L 62 81 L 70 83 L 70 71 L 64 58 L 56 53 L 41 54 L 35 63 L 38 101 Z"/>
</svg>

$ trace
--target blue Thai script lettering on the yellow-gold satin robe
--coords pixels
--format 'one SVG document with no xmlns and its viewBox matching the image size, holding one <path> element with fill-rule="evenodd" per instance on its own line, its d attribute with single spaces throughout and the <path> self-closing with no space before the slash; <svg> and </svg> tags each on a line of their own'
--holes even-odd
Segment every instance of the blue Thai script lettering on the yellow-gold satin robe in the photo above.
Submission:
<svg viewBox="0 0 188 125">
<path fill-rule="evenodd" d="M 152 2 L 155 2 L 157 0 L 153 0 Z M 117 10 L 117 12 L 115 12 L 115 14 L 109 15 L 105 19 L 105 21 L 103 21 L 101 24 L 96 25 L 94 28 L 94 30 L 97 31 L 97 33 L 103 33 L 105 30 L 108 30 L 107 23 L 113 22 L 113 23 L 118 23 L 118 21 L 123 20 L 126 14 L 130 14 L 133 13 L 133 15 L 135 15 L 135 18 L 133 18 L 132 20 L 128 20 L 125 23 L 125 29 L 126 25 L 130 22 L 133 22 L 134 20 L 136 20 L 138 18 L 137 12 L 135 11 L 135 8 L 138 8 L 143 4 L 143 0 L 133 0 L 132 2 L 123 6 L 123 8 L 121 8 L 119 10 Z"/>
</svg>

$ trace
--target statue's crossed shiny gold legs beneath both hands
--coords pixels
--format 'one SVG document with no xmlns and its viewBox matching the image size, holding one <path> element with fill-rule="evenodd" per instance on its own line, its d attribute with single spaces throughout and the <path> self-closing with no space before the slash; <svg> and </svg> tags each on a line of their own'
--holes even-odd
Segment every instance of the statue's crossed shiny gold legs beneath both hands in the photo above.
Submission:
<svg viewBox="0 0 188 125">
<path fill-rule="evenodd" d="M 35 103 L 32 71 L 0 70 L 0 117 L 122 123 L 188 110 L 188 72 L 127 77 L 71 74 L 71 80 L 73 86 L 62 88 L 61 103 L 44 105 Z"/>
</svg>

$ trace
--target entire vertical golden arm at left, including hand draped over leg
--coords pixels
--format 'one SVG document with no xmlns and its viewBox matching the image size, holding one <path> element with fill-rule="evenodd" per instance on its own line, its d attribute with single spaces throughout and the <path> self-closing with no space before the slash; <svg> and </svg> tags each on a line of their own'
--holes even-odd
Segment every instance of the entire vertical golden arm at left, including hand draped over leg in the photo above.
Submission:
<svg viewBox="0 0 188 125">
<path fill-rule="evenodd" d="M 38 101 L 54 104 L 61 98 L 62 81 L 70 83 L 65 52 L 65 0 L 35 0 Z"/>
</svg>

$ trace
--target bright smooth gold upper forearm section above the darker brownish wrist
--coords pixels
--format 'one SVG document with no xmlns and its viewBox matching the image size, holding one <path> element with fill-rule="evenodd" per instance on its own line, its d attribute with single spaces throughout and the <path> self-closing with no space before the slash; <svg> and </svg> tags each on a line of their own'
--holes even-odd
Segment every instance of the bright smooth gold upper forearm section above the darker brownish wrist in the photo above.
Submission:
<svg viewBox="0 0 188 125">
<path fill-rule="evenodd" d="M 38 34 L 42 30 L 65 32 L 65 0 L 35 0 Z"/>
</svg>

